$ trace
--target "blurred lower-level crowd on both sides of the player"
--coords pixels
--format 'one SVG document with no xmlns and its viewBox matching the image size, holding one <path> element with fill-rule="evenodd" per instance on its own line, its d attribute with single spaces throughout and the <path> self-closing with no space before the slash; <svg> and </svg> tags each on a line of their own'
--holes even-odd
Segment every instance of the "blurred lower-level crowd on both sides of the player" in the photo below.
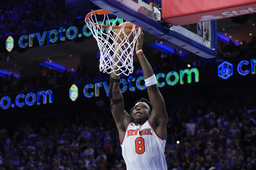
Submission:
<svg viewBox="0 0 256 170">
<path fill-rule="evenodd" d="M 255 169 L 253 95 L 244 96 L 246 100 L 204 97 L 166 105 L 168 170 Z M 9 129 L 1 125 L 0 170 L 125 170 L 110 111 L 78 112 L 26 119 Z"/>
</svg>

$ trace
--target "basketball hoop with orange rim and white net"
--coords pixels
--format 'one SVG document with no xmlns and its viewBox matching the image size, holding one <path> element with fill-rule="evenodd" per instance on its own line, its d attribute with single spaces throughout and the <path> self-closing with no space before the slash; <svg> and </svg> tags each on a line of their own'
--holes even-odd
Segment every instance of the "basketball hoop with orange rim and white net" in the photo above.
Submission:
<svg viewBox="0 0 256 170">
<path fill-rule="evenodd" d="M 133 50 L 141 28 L 134 24 L 126 25 L 126 22 L 123 22 L 123 19 L 119 17 L 110 19 L 110 14 L 110 12 L 104 9 L 90 12 L 85 18 L 86 26 L 97 40 L 100 50 L 99 70 L 107 74 L 114 72 L 116 75 L 123 73 L 128 76 L 130 73 L 133 73 Z M 102 16 L 103 21 L 98 21 L 97 17 L 99 16 Z M 116 26 L 118 22 L 119 24 L 123 23 L 124 26 Z M 129 28 L 131 33 L 126 34 L 125 28 Z M 115 29 L 120 29 L 120 31 L 116 33 Z M 119 35 L 121 33 L 124 38 L 120 41 Z M 132 37 L 134 37 L 133 40 Z M 118 43 L 117 41 L 120 42 Z M 117 50 L 115 50 L 115 44 L 117 45 Z M 118 53 L 117 51 L 119 50 L 120 52 Z M 115 56 L 118 59 L 117 61 L 114 61 Z M 116 73 L 116 71 L 119 71 L 119 73 Z"/>
</svg>

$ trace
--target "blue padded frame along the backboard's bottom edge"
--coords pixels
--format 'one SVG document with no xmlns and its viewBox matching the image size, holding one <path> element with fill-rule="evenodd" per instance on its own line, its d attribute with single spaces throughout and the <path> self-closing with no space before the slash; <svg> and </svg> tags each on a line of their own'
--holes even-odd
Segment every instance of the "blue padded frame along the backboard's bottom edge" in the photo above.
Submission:
<svg viewBox="0 0 256 170">
<path fill-rule="evenodd" d="M 209 21 L 211 33 L 209 35 L 210 39 L 207 41 L 181 26 L 172 26 L 170 28 L 163 26 L 156 20 L 156 14 L 131 0 L 90 1 L 114 15 L 138 25 L 154 36 L 170 41 L 198 56 L 213 58 L 217 55 L 216 20 Z"/>
</svg>

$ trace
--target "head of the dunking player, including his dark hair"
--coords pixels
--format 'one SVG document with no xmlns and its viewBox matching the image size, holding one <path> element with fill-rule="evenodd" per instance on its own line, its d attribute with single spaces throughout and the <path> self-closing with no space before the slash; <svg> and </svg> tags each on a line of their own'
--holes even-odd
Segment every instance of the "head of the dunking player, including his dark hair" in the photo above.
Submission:
<svg viewBox="0 0 256 170">
<path fill-rule="evenodd" d="M 130 110 L 131 119 L 134 123 L 144 123 L 149 119 L 152 109 L 150 102 L 141 98 L 135 102 L 134 107 Z"/>
</svg>

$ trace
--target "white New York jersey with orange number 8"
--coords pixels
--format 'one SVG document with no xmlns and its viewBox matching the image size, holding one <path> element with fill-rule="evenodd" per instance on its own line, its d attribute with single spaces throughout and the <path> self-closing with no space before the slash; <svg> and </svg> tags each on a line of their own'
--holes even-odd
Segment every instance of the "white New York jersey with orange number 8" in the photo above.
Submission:
<svg viewBox="0 0 256 170">
<path fill-rule="evenodd" d="M 144 124 L 129 122 L 121 142 L 127 170 L 167 170 L 165 143 L 166 140 L 155 133 L 149 120 Z"/>
</svg>

